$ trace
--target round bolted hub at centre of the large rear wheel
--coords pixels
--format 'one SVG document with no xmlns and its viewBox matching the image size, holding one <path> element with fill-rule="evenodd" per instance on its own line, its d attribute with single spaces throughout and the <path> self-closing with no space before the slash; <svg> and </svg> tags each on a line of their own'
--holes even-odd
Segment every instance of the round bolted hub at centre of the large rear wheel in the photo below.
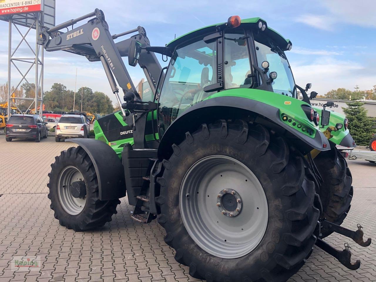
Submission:
<svg viewBox="0 0 376 282">
<path fill-rule="evenodd" d="M 217 196 L 217 207 L 226 217 L 236 217 L 242 208 L 240 194 L 233 189 L 223 189 Z"/>
</svg>

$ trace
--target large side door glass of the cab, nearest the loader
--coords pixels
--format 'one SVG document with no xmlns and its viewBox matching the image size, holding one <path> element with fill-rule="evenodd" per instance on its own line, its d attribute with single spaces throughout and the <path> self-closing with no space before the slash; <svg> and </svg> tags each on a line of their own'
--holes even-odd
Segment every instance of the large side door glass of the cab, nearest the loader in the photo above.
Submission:
<svg viewBox="0 0 376 282">
<path fill-rule="evenodd" d="M 217 64 L 216 46 L 217 42 L 198 40 L 173 53 L 159 99 L 161 135 L 182 112 L 213 94 L 203 88 L 217 81 L 213 71 Z"/>
</svg>

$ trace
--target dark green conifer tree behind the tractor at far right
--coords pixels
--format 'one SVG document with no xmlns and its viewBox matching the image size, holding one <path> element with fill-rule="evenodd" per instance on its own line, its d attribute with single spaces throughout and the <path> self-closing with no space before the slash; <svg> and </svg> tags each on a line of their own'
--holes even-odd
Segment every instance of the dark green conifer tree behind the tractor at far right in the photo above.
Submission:
<svg viewBox="0 0 376 282">
<path fill-rule="evenodd" d="M 367 110 L 362 102 L 347 102 L 347 108 L 342 108 L 349 120 L 350 134 L 356 144 L 366 146 L 374 133 L 373 120 L 367 116 Z"/>
</svg>

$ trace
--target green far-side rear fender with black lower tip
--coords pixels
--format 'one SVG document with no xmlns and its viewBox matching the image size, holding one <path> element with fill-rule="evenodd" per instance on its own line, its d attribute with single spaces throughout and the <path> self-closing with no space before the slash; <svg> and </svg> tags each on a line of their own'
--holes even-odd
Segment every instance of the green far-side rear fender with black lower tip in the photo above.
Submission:
<svg viewBox="0 0 376 282">
<path fill-rule="evenodd" d="M 318 107 L 312 107 L 316 112 L 321 113 L 322 108 Z M 350 134 L 349 129 L 345 129 L 344 127 L 344 120 L 345 116 L 343 114 L 340 114 L 338 112 L 332 112 L 330 113 L 329 118 L 329 124 L 324 127 L 320 127 L 320 130 L 324 132 L 327 127 L 333 126 L 336 127 L 337 124 L 342 124 L 342 128 L 338 129 L 337 131 L 332 131 L 331 134 L 333 135 L 332 138 L 329 140 L 333 142 L 336 145 L 344 146 L 344 147 L 356 147 L 355 141 L 353 137 Z"/>
</svg>

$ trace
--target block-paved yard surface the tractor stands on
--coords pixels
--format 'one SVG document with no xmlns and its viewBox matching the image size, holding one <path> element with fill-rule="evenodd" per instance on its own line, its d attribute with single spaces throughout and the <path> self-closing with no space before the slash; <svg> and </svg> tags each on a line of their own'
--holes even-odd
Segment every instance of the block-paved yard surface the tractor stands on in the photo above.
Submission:
<svg viewBox="0 0 376 282">
<path fill-rule="evenodd" d="M 141 224 L 130 218 L 133 207 L 121 199 L 118 213 L 101 229 L 74 232 L 59 225 L 47 199 L 47 173 L 56 155 L 73 143 L 6 142 L 0 135 L 0 281 L 199 281 L 174 260 L 156 221 Z M 376 164 L 348 161 L 354 186 L 352 208 L 343 226 L 364 227 L 365 239 L 376 240 Z M 326 239 L 338 249 L 352 247 L 356 271 L 347 270 L 321 249 L 289 281 L 376 281 L 376 247 L 360 247 L 349 238 Z M 40 267 L 11 269 L 14 256 L 39 256 Z M 29 269 L 29 268 L 27 268 Z"/>
</svg>

